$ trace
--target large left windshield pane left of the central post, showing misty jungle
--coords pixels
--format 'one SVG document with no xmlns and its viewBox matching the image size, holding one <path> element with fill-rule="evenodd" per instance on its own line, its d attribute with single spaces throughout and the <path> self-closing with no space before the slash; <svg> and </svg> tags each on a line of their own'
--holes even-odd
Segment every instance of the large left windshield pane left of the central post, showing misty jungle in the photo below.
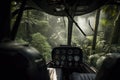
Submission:
<svg viewBox="0 0 120 80">
<path fill-rule="evenodd" d="M 67 43 L 67 25 L 66 17 L 37 10 L 24 11 L 16 41 L 37 48 L 50 61 L 52 48 Z"/>
</svg>

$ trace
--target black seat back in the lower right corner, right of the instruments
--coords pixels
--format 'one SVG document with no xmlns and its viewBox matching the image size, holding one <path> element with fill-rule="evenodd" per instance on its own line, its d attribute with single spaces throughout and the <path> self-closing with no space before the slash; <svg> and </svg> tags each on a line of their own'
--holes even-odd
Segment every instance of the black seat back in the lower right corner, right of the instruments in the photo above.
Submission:
<svg viewBox="0 0 120 80">
<path fill-rule="evenodd" d="M 120 79 L 120 53 L 108 54 L 103 61 L 95 80 L 119 80 Z"/>
</svg>

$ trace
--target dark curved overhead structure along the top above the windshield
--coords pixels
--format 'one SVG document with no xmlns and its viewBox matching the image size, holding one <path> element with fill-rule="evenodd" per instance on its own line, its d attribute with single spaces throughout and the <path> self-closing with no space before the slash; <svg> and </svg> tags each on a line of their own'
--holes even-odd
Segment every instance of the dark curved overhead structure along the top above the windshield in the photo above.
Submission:
<svg viewBox="0 0 120 80">
<path fill-rule="evenodd" d="M 75 15 L 82 15 L 100 8 L 110 0 L 32 0 L 43 11 L 66 16 L 66 10 L 74 11 Z"/>
</svg>

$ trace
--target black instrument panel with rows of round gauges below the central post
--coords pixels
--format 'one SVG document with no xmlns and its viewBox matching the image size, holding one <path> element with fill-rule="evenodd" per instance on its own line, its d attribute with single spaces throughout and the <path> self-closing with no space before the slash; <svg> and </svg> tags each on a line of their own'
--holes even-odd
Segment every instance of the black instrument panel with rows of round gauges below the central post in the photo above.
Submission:
<svg viewBox="0 0 120 80">
<path fill-rule="evenodd" d="M 52 51 L 54 67 L 79 67 L 82 58 L 82 50 L 78 47 L 56 47 Z"/>
</svg>

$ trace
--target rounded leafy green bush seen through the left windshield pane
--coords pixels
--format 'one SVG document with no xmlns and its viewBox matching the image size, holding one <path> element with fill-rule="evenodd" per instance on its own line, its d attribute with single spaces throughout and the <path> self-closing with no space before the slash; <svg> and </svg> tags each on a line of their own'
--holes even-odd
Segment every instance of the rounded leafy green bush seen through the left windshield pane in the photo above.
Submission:
<svg viewBox="0 0 120 80">
<path fill-rule="evenodd" d="M 32 34 L 31 45 L 35 47 L 48 61 L 51 57 L 51 46 L 47 42 L 45 36 L 40 33 Z"/>
</svg>

